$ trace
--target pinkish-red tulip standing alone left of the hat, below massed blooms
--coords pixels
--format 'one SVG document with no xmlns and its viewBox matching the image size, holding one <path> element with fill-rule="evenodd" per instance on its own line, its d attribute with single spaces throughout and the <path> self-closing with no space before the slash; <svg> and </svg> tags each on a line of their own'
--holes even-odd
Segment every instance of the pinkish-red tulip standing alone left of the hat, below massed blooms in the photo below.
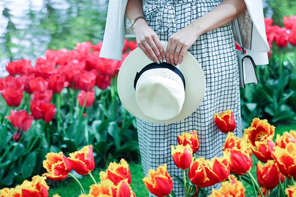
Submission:
<svg viewBox="0 0 296 197">
<path fill-rule="evenodd" d="M 96 71 L 84 71 L 79 74 L 78 87 L 84 91 L 90 91 L 94 88 L 96 82 Z"/>
</svg>

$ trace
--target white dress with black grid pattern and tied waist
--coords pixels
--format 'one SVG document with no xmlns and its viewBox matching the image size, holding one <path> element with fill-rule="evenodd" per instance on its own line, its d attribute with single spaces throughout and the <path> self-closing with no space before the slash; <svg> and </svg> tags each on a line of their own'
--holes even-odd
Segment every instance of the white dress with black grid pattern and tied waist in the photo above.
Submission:
<svg viewBox="0 0 296 197">
<path fill-rule="evenodd" d="M 168 41 L 173 33 L 203 16 L 223 0 L 145 0 L 144 16 L 148 25 L 157 33 L 161 41 Z M 217 16 L 219 17 L 219 16 Z M 176 196 L 184 197 L 184 188 L 173 174 L 183 180 L 182 170 L 174 164 L 170 146 L 176 148 L 177 135 L 196 130 L 200 148 L 199 157 L 211 159 L 223 155 L 221 146 L 226 135 L 219 131 L 214 121 L 214 113 L 231 109 L 237 123 L 233 131 L 242 137 L 239 71 L 231 23 L 206 32 L 194 42 L 188 51 L 201 64 L 206 79 L 206 92 L 201 105 L 188 118 L 173 124 L 155 124 L 137 118 L 139 148 L 145 176 L 149 169 L 167 164 L 173 179 Z M 182 66 L 182 65 L 180 65 Z M 186 172 L 187 176 L 187 172 Z M 220 188 L 221 183 L 215 184 Z M 211 193 L 212 187 L 209 187 Z M 207 189 L 207 188 L 205 188 Z M 149 197 L 155 196 L 149 192 Z"/>
</svg>

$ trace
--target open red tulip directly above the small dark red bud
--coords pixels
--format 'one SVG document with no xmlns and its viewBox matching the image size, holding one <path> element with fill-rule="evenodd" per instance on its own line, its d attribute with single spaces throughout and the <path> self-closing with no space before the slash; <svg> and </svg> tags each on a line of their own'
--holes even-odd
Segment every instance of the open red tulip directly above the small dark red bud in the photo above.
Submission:
<svg viewBox="0 0 296 197">
<path fill-rule="evenodd" d="M 17 131 L 26 132 L 32 125 L 33 116 L 29 115 L 26 110 L 10 110 L 10 115 L 5 116 Z"/>
</svg>

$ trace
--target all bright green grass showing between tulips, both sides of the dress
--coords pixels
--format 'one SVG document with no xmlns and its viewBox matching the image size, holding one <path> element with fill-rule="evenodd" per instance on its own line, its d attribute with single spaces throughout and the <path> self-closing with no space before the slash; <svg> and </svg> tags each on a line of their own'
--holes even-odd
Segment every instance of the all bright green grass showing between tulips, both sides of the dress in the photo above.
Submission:
<svg viewBox="0 0 296 197">
<path fill-rule="evenodd" d="M 296 130 L 296 122 L 287 122 L 287 123 L 281 123 L 276 125 L 275 129 L 275 137 L 274 140 L 276 139 L 276 134 L 281 134 L 285 131 L 290 131 L 290 130 Z M 251 174 L 254 176 L 256 179 L 256 164 L 258 163 L 258 159 L 252 154 L 252 161 L 253 161 L 253 167 L 251 169 Z M 131 188 L 136 194 L 136 196 L 140 197 L 146 197 L 149 195 L 149 192 L 147 188 L 144 185 L 144 182 L 142 179 L 144 178 L 144 173 L 142 169 L 142 165 L 134 163 L 134 162 L 129 162 L 130 166 L 130 171 L 131 171 Z M 96 169 L 92 172 L 92 175 L 96 179 L 97 182 L 99 182 L 99 172 L 101 170 L 106 170 L 106 169 Z M 172 176 L 172 175 L 171 175 Z M 94 184 L 93 180 L 89 177 L 89 175 L 81 176 L 82 178 L 80 179 L 81 184 L 83 185 L 83 188 L 85 189 L 86 193 L 89 191 L 89 186 Z M 253 188 L 251 185 L 248 185 L 246 182 L 243 181 L 244 187 L 246 188 L 246 197 L 251 197 L 253 196 Z M 51 186 L 49 189 L 49 196 L 52 196 L 53 194 L 59 194 L 62 197 L 76 197 L 80 193 L 80 188 L 76 182 L 73 181 L 72 178 L 67 178 L 64 181 L 60 182 L 54 182 L 54 185 Z"/>
</svg>

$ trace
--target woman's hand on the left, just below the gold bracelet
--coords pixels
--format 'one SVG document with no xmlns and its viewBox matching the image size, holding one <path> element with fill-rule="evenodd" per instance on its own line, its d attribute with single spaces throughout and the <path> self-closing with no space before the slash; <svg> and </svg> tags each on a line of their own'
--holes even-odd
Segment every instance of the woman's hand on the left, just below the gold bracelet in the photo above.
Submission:
<svg viewBox="0 0 296 197">
<path fill-rule="evenodd" d="M 136 20 L 133 25 L 133 32 L 135 33 L 139 48 L 142 49 L 147 57 L 157 64 L 163 63 L 165 59 L 163 45 L 161 45 L 158 35 L 149 27 L 144 19 Z M 154 46 L 151 48 L 150 45 Z"/>
</svg>

